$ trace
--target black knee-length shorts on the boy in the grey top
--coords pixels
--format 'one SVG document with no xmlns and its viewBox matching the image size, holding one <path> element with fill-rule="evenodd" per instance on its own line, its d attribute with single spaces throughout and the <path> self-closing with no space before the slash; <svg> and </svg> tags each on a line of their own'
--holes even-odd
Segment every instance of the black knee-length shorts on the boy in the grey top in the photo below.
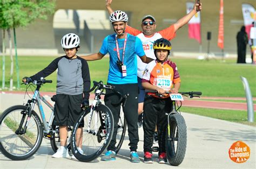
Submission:
<svg viewBox="0 0 256 169">
<path fill-rule="evenodd" d="M 55 125 L 73 126 L 81 112 L 83 94 L 64 95 L 57 94 L 55 102 Z"/>
</svg>

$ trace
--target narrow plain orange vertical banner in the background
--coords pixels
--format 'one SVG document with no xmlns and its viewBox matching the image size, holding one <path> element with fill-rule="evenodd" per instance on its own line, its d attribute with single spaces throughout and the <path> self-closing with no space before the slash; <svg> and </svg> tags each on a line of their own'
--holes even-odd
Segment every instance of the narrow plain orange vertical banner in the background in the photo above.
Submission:
<svg viewBox="0 0 256 169">
<path fill-rule="evenodd" d="M 219 34 L 218 34 L 218 46 L 221 50 L 224 49 L 224 0 L 220 0 L 220 18 L 219 18 Z"/>
</svg>

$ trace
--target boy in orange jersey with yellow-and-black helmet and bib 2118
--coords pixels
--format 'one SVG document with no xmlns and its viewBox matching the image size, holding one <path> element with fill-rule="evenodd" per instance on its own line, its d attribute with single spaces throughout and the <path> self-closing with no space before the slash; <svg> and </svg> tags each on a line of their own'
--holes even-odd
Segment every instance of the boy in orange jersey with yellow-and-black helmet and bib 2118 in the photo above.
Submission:
<svg viewBox="0 0 256 169">
<path fill-rule="evenodd" d="M 159 163 L 167 162 L 165 150 L 165 132 L 167 125 L 167 114 L 171 110 L 171 98 L 165 91 L 178 93 L 180 88 L 180 76 L 174 62 L 167 60 L 171 50 L 171 43 L 167 39 L 160 38 L 154 41 L 153 49 L 156 60 L 151 61 L 145 68 L 142 78 L 142 86 L 146 89 L 144 100 L 144 162 L 153 163 L 152 145 L 153 133 L 157 125 Z M 147 92 L 155 90 L 163 97 L 155 93 Z"/>
</svg>

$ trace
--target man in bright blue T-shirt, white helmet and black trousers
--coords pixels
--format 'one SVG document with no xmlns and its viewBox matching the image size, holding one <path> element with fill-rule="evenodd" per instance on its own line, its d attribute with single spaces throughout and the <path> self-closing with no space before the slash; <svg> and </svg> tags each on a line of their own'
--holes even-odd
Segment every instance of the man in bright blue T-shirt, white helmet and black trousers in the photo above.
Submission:
<svg viewBox="0 0 256 169">
<path fill-rule="evenodd" d="M 83 56 L 82 58 L 90 60 L 99 60 L 109 53 L 109 75 L 107 85 L 112 85 L 122 94 L 129 93 L 125 107 L 123 107 L 124 116 L 127 121 L 128 135 L 130 139 L 131 161 L 139 163 L 137 153 L 139 136 L 138 136 L 138 81 L 137 81 L 137 55 L 145 62 L 149 63 L 153 59 L 147 58 L 142 46 L 142 41 L 125 32 L 128 16 L 123 11 L 114 11 L 110 15 L 114 34 L 107 36 L 100 48 L 95 54 Z M 104 102 L 110 108 L 114 117 L 114 132 L 107 152 L 102 160 L 109 161 L 116 159 L 116 136 L 117 123 L 120 114 L 120 105 L 112 105 L 111 102 L 117 102 L 119 97 L 111 90 L 106 90 Z"/>
</svg>

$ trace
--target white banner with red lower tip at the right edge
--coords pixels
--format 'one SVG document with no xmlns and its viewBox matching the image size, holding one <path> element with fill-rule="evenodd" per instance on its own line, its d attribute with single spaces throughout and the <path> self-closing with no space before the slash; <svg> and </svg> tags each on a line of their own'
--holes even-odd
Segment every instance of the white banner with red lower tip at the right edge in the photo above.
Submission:
<svg viewBox="0 0 256 169">
<path fill-rule="evenodd" d="M 256 12 L 252 5 L 242 3 L 242 17 L 244 17 L 245 32 L 248 35 L 248 39 L 250 39 L 252 22 L 256 21 Z"/>
</svg>

